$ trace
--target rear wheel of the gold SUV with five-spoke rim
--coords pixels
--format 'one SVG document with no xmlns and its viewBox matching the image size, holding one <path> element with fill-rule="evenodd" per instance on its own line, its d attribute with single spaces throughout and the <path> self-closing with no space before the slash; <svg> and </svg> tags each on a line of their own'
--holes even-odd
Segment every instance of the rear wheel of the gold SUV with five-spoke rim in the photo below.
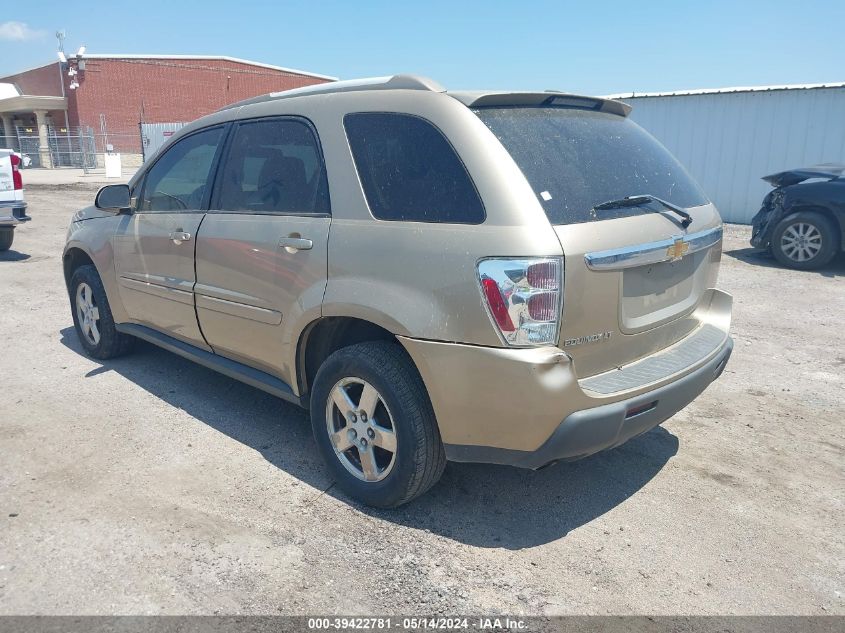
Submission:
<svg viewBox="0 0 845 633">
<path fill-rule="evenodd" d="M 338 388 L 348 399 L 338 395 Z M 336 404 L 339 398 L 346 411 Z M 311 390 L 311 425 L 338 487 L 369 506 L 395 508 L 409 502 L 437 483 L 446 467 L 425 385 L 397 343 L 359 343 L 329 356 Z M 343 442 L 338 449 L 330 426 L 340 431 L 335 435 L 335 441 Z M 362 441 L 367 446 L 363 453 Z"/>
</svg>

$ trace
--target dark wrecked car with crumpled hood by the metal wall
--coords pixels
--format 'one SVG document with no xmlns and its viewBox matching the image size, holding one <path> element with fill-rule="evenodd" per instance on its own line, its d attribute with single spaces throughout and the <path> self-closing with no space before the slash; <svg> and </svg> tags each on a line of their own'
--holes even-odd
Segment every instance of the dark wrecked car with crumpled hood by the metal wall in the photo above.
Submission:
<svg viewBox="0 0 845 633">
<path fill-rule="evenodd" d="M 751 220 L 751 245 L 784 266 L 813 270 L 845 248 L 845 165 L 790 169 L 763 180 L 772 189 Z"/>
</svg>

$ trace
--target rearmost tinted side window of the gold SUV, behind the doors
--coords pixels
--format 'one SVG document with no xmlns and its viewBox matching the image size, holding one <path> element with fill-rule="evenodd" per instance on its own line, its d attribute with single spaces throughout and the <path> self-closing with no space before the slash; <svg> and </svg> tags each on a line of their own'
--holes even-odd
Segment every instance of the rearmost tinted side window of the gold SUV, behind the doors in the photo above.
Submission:
<svg viewBox="0 0 845 633">
<path fill-rule="evenodd" d="M 480 224 L 484 206 L 449 141 L 428 121 L 407 114 L 344 117 L 355 168 L 380 220 Z"/>
</svg>

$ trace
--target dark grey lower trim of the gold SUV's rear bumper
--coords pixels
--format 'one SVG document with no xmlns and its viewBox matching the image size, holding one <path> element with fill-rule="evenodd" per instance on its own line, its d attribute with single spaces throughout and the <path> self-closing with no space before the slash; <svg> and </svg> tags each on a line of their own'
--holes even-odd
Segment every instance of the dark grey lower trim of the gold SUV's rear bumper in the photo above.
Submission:
<svg viewBox="0 0 845 633">
<path fill-rule="evenodd" d="M 710 361 L 683 378 L 633 398 L 568 415 L 535 451 L 488 446 L 446 446 L 446 456 L 459 462 L 507 464 L 537 469 L 571 461 L 619 446 L 668 420 L 704 391 L 725 369 L 733 351 L 728 337 Z M 636 411 L 642 410 L 642 413 Z"/>
</svg>

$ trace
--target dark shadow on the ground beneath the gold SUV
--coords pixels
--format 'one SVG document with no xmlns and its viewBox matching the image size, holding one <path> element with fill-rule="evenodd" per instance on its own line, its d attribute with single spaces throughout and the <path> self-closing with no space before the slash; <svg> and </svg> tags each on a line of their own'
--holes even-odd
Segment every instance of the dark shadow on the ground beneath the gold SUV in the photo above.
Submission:
<svg viewBox="0 0 845 633">
<path fill-rule="evenodd" d="M 84 354 L 74 328 L 60 334 L 63 345 Z M 657 427 L 613 450 L 538 471 L 450 462 L 427 494 L 380 510 L 334 487 L 304 410 L 142 341 L 86 377 L 108 371 L 361 512 L 478 547 L 516 550 L 560 539 L 631 497 L 678 452 L 678 438 Z"/>
</svg>

